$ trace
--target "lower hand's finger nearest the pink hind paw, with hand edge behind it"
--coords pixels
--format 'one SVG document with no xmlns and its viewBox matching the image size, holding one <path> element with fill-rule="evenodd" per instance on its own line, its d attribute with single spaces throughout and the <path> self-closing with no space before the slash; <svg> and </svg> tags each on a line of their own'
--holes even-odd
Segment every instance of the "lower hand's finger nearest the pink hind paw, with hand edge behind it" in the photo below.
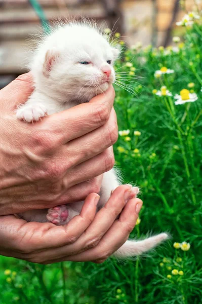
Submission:
<svg viewBox="0 0 202 304">
<path fill-rule="evenodd" d="M 14 216 L 0 218 L 0 241 L 12 250 L 28 254 L 36 250 L 64 246 L 74 243 L 94 219 L 99 196 L 90 194 L 82 212 L 64 226 L 52 223 L 29 222 Z"/>
</svg>

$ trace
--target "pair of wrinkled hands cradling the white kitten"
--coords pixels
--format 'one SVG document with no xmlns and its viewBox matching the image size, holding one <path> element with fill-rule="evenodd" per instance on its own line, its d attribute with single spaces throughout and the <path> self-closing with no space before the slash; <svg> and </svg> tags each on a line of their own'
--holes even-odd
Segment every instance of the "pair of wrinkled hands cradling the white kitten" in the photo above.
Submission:
<svg viewBox="0 0 202 304">
<path fill-rule="evenodd" d="M 103 262 L 128 239 L 142 206 L 137 198 L 126 204 L 129 186 L 122 185 L 96 213 L 101 174 L 114 163 L 114 91 L 28 125 L 14 109 L 32 90 L 28 73 L 0 91 L 0 254 L 43 264 Z M 84 198 L 80 215 L 64 226 L 9 215 Z"/>
</svg>

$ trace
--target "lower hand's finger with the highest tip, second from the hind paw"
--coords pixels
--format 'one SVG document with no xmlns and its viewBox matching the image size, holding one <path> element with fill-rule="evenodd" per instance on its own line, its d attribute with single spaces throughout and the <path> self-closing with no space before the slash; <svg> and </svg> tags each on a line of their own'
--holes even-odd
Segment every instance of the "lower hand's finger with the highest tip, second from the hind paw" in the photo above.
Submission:
<svg viewBox="0 0 202 304">
<path fill-rule="evenodd" d="M 62 258 L 81 251 L 86 252 L 89 248 L 95 247 L 124 208 L 126 197 L 130 195 L 129 189 L 131 189 L 129 185 L 117 187 L 105 207 L 96 214 L 85 233 L 74 244 L 48 250 L 45 254 L 49 259 Z"/>
</svg>

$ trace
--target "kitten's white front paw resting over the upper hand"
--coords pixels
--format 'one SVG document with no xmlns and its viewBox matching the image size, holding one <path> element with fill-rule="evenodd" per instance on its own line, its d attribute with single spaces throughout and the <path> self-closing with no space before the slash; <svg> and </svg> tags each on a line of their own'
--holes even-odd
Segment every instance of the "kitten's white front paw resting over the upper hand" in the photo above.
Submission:
<svg viewBox="0 0 202 304">
<path fill-rule="evenodd" d="M 41 104 L 24 105 L 16 111 L 16 116 L 27 123 L 38 121 L 41 117 L 46 116 L 47 109 Z"/>
</svg>

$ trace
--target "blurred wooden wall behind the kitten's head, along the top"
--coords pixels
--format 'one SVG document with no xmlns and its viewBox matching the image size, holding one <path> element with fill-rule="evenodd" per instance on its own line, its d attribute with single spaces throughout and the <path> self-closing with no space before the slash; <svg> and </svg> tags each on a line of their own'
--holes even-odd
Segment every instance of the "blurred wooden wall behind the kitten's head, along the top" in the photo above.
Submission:
<svg viewBox="0 0 202 304">
<path fill-rule="evenodd" d="M 28 48 L 33 48 L 31 36 L 42 32 L 39 18 L 31 0 L 0 0 L 0 86 L 26 71 Z M 169 45 L 171 31 L 180 34 L 175 26 L 184 12 L 179 0 L 39 0 L 46 18 L 88 16 L 98 22 L 106 21 L 122 33 L 129 45 L 141 41 L 143 45 Z M 186 0 L 191 10 L 193 0 Z"/>
</svg>

